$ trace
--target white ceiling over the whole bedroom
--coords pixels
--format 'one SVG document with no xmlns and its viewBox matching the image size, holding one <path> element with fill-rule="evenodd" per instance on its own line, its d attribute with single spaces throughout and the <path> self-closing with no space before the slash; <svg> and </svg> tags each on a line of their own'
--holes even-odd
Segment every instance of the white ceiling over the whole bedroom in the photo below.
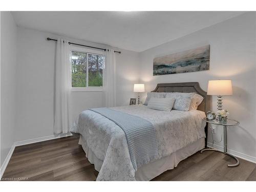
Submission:
<svg viewBox="0 0 256 192">
<path fill-rule="evenodd" d="M 18 26 L 144 51 L 244 12 L 12 12 Z"/>
</svg>

